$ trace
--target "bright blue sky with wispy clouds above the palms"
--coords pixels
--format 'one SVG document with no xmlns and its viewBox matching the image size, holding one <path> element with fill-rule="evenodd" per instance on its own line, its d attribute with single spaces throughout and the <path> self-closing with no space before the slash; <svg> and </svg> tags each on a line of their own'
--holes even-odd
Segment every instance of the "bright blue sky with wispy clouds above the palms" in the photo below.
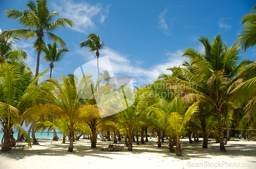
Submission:
<svg viewBox="0 0 256 169">
<path fill-rule="evenodd" d="M 17 21 L 8 19 L 4 11 L 27 9 L 24 0 L 0 0 L 0 29 L 21 29 Z M 231 46 L 241 30 L 241 18 L 249 13 L 254 1 L 48 1 L 51 12 L 69 18 L 75 26 L 54 32 L 62 38 L 70 52 L 54 64 L 52 76 L 74 73 L 77 67 L 95 59 L 95 52 L 80 48 L 89 33 L 99 34 L 105 47 L 100 57 L 109 56 L 114 74 L 130 75 L 134 85 L 151 83 L 167 68 L 179 66 L 187 47 L 202 51 L 197 41 L 201 36 L 210 41 L 219 33 Z M 17 41 L 17 47 L 28 53 L 27 64 L 35 72 L 34 40 Z M 52 43 L 47 41 L 47 43 Z M 60 48 L 60 46 L 58 46 Z M 49 68 L 40 56 L 39 71 Z M 255 60 L 252 49 L 242 58 Z M 46 77 L 49 73 L 46 74 Z"/>
</svg>

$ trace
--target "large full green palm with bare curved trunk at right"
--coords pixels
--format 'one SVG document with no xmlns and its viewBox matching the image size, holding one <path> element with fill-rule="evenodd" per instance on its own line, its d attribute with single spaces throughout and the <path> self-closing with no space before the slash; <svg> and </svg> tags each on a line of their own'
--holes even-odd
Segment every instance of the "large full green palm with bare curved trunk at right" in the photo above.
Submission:
<svg viewBox="0 0 256 169">
<path fill-rule="evenodd" d="M 204 53 L 194 48 L 185 49 L 183 56 L 191 60 L 190 68 L 170 69 L 177 70 L 183 78 L 169 77 L 166 82 L 170 83 L 170 89 L 188 93 L 184 96 L 188 102 L 200 100 L 202 105 L 212 106 L 212 111 L 218 117 L 220 149 L 225 151 L 221 112 L 230 103 L 230 91 L 241 82 L 241 79 L 236 78 L 238 72 L 249 62 L 244 60 L 238 65 L 241 51 L 237 45 L 227 49 L 220 35 L 214 38 L 212 44 L 205 37 L 199 41 L 204 45 Z"/>
</svg>

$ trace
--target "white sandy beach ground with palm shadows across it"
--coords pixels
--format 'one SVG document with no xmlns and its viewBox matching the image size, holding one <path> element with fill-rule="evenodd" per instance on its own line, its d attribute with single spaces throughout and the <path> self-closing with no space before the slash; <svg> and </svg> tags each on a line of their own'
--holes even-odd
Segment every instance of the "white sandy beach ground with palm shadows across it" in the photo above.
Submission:
<svg viewBox="0 0 256 169">
<path fill-rule="evenodd" d="M 75 152 L 69 153 L 68 141 L 61 144 L 61 140 L 39 140 L 40 146 L 0 152 L 0 168 L 256 168 L 255 141 L 230 141 L 227 153 L 221 153 L 214 141 L 208 143 L 208 149 L 203 149 L 202 141 L 189 144 L 187 138 L 181 140 L 182 157 L 168 152 L 167 140 L 158 148 L 156 138 L 144 145 L 133 144 L 133 152 L 128 152 L 127 147 L 118 152 L 103 152 L 100 148 L 113 142 L 98 140 L 97 148 L 91 149 L 90 140 L 80 139 L 74 143 Z"/>
</svg>

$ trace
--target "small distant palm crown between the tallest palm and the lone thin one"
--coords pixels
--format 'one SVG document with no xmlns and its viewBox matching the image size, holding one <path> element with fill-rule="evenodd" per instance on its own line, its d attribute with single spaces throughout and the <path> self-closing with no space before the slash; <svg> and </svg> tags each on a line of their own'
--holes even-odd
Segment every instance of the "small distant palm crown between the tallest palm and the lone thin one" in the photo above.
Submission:
<svg viewBox="0 0 256 169">
<path fill-rule="evenodd" d="M 52 45 L 48 44 L 48 48 L 44 49 L 46 62 L 50 62 L 50 78 L 52 78 L 52 69 L 54 67 L 53 62 L 59 62 L 63 58 L 63 54 L 69 52 L 68 48 L 57 48 L 57 44 L 54 42 Z"/>
</svg>

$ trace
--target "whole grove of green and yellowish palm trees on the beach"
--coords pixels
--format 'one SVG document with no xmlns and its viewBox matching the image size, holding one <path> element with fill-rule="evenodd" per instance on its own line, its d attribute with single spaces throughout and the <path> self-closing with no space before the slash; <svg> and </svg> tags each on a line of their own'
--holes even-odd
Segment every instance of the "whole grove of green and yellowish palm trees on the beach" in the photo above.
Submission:
<svg viewBox="0 0 256 169">
<path fill-rule="evenodd" d="M 220 143 L 220 150 L 225 150 L 229 137 L 229 127 L 241 129 L 245 134 L 248 128 L 255 128 L 256 120 L 256 63 L 241 60 L 239 55 L 256 44 L 256 7 L 252 13 L 244 16 L 238 44 L 227 48 L 220 35 L 212 42 L 201 37 L 199 42 L 204 46 L 201 53 L 195 48 L 184 50 L 183 57 L 187 62 L 181 67 L 169 68 L 171 74 L 161 74 L 154 83 L 132 90 L 128 86 L 117 87 L 109 84 L 108 71 L 99 72 L 98 80 L 93 82 L 93 75 L 82 75 L 77 79 L 73 74 L 61 78 L 51 77 L 53 63 L 60 61 L 68 52 L 65 42 L 52 34 L 56 29 L 73 26 L 73 21 L 59 18 L 55 11 L 50 13 L 46 0 L 30 1 L 29 10 L 23 12 L 7 10 L 7 17 L 17 20 L 27 30 L 5 30 L 0 36 L 0 123 L 4 132 L 2 151 L 9 151 L 10 137 L 13 129 L 24 133 L 31 146 L 30 135 L 22 125 L 31 125 L 32 142 L 38 144 L 34 132 L 54 131 L 54 140 L 58 140 L 55 129 L 63 135 L 63 143 L 69 137 L 68 151 L 73 151 L 73 142 L 83 134 L 90 135 L 91 147 L 96 148 L 97 135 L 100 132 L 110 140 L 111 133 L 121 140 L 124 136 L 128 151 L 133 150 L 133 142 L 144 143 L 144 131 L 157 133 L 158 147 L 164 136 L 169 142 L 169 151 L 181 156 L 180 138 L 191 133 L 203 136 L 203 148 L 207 148 L 209 135 Z M 45 44 L 44 36 L 54 43 Z M 34 43 L 37 52 L 36 73 L 33 75 L 26 66 L 27 54 L 14 49 L 14 39 L 36 38 Z M 61 48 L 57 48 L 57 43 Z M 98 35 L 89 34 L 88 39 L 80 43 L 90 52 L 104 47 Z M 44 59 L 50 62 L 50 78 L 38 83 L 46 73 L 39 73 L 39 57 L 44 52 Z M 97 62 L 98 64 L 98 62 Z M 100 81 L 106 81 L 101 85 Z M 76 90 L 82 89 L 82 90 Z M 87 97 L 78 97 L 87 96 Z M 100 96 L 100 97 L 99 97 Z M 124 99 L 123 99 L 124 98 Z M 101 102 L 99 104 L 99 99 Z M 103 100 L 103 101 L 102 101 Z M 133 104 L 131 104 L 133 103 Z M 123 108 L 125 107 L 125 108 Z M 113 113 L 112 116 L 100 118 L 101 113 Z M 223 128 L 226 128 L 224 132 Z M 224 143 L 224 134 L 226 140 Z M 194 134 L 195 135 L 195 134 Z M 128 138 L 128 140 L 127 140 Z M 176 146 L 176 150 L 174 150 Z"/>
</svg>

